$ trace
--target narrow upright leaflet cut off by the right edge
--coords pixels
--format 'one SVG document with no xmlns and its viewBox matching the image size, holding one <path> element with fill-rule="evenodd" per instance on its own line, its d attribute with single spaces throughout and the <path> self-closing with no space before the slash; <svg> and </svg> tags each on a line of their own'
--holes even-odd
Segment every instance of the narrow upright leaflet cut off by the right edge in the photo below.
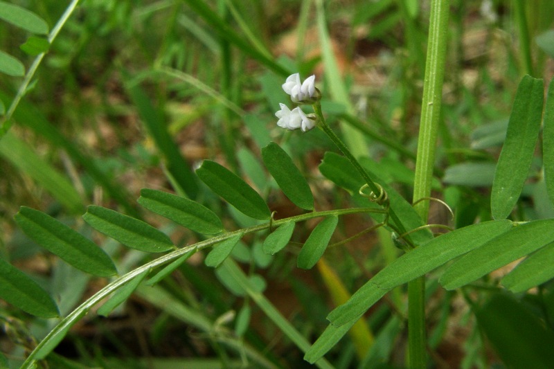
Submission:
<svg viewBox="0 0 554 369">
<path fill-rule="evenodd" d="M 553 30 L 554 33 L 554 30 Z M 554 206 L 554 78 L 548 85 L 546 108 L 544 109 L 544 127 L 542 129 L 542 161 L 546 191 Z"/>
</svg>

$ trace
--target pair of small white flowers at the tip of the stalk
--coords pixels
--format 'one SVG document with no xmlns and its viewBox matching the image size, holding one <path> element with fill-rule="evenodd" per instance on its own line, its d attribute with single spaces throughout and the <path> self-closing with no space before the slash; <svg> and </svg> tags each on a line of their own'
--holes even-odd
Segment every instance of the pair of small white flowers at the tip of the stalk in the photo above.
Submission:
<svg viewBox="0 0 554 369">
<path fill-rule="evenodd" d="M 290 95 L 290 99 L 297 105 L 313 104 L 319 100 L 319 90 L 315 87 L 316 76 L 311 75 L 304 82 L 300 80 L 300 74 L 289 75 L 283 84 L 283 90 Z M 316 125 L 314 114 L 306 115 L 300 107 L 289 109 L 285 104 L 279 104 L 281 109 L 275 113 L 279 118 L 277 125 L 287 129 L 302 129 L 309 131 Z"/>
</svg>

